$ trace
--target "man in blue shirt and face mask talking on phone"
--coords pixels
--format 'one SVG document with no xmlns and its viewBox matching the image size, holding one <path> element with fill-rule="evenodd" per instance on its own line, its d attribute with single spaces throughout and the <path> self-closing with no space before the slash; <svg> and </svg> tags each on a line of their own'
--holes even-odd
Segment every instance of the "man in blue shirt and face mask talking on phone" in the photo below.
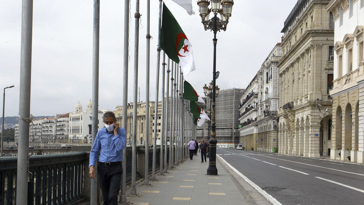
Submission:
<svg viewBox="0 0 364 205">
<path fill-rule="evenodd" d="M 95 179 L 94 166 L 98 160 L 98 177 L 104 205 L 117 205 L 120 182 L 123 173 L 121 161 L 126 143 L 126 131 L 119 127 L 113 112 L 105 112 L 105 127 L 97 132 L 90 152 L 90 177 Z"/>
</svg>

